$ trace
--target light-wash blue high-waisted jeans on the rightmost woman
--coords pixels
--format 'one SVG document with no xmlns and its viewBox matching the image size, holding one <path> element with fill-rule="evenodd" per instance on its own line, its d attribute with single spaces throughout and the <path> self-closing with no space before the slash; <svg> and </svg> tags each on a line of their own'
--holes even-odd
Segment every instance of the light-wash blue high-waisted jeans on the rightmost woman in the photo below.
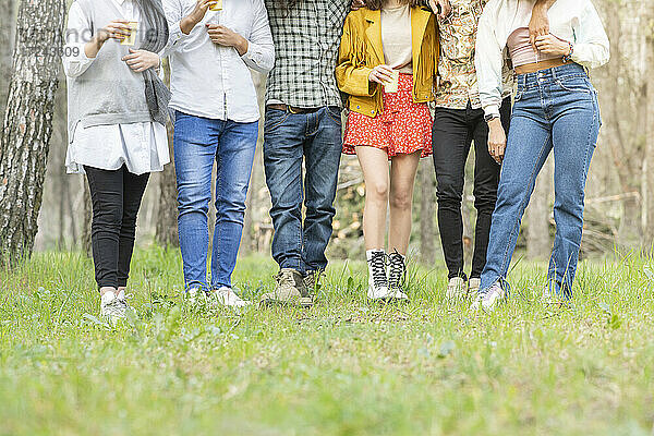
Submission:
<svg viewBox="0 0 654 436">
<path fill-rule="evenodd" d="M 569 299 L 583 230 L 584 190 L 602 121 L 597 93 L 584 69 L 567 64 L 518 76 L 482 293 L 507 274 L 534 183 L 554 149 L 556 235 L 547 271 L 549 291 Z"/>
</svg>

